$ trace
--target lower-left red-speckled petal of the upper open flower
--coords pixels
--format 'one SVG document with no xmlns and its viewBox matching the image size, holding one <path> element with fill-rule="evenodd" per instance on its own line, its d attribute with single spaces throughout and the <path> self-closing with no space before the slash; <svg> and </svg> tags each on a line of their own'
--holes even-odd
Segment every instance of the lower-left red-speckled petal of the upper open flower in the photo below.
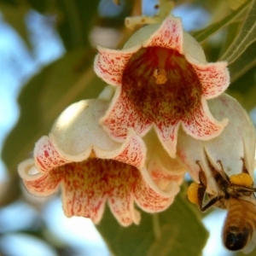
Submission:
<svg viewBox="0 0 256 256">
<path fill-rule="evenodd" d="M 117 88 L 112 105 L 102 118 L 102 125 L 117 141 L 124 141 L 128 128 L 133 128 L 137 134 L 144 135 L 151 126 L 151 121 L 132 108 L 125 93 Z"/>
</svg>

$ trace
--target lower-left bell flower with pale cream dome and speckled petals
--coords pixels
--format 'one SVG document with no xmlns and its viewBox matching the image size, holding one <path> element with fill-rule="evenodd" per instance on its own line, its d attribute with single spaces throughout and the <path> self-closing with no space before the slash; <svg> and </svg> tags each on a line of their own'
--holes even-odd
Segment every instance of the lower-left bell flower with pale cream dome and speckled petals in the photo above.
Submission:
<svg viewBox="0 0 256 256">
<path fill-rule="evenodd" d="M 146 212 L 165 210 L 179 190 L 183 172 L 172 175 L 164 165 L 161 176 L 156 175 L 157 166 L 148 172 L 141 137 L 131 129 L 125 142 L 117 143 L 99 125 L 107 108 L 108 102 L 100 99 L 71 105 L 18 172 L 32 195 L 52 195 L 61 187 L 67 217 L 83 216 L 97 224 L 108 201 L 119 224 L 138 224 L 134 202 Z"/>
</svg>

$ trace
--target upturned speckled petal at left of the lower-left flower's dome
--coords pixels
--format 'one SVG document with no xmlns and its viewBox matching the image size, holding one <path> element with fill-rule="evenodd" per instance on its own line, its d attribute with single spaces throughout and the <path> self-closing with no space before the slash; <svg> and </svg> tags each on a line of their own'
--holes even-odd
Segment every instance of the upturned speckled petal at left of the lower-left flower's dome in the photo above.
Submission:
<svg viewBox="0 0 256 256">
<path fill-rule="evenodd" d="M 42 172 L 48 172 L 57 166 L 65 165 L 70 160 L 62 157 L 49 137 L 41 137 L 34 148 L 35 165 Z"/>
</svg>

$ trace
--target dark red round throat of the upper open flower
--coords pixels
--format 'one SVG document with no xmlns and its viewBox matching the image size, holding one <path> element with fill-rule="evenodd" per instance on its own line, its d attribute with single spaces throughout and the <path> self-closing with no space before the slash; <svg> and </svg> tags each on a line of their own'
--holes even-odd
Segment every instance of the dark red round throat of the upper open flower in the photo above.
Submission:
<svg viewBox="0 0 256 256">
<path fill-rule="evenodd" d="M 127 63 L 122 93 L 144 119 L 182 119 L 201 104 L 201 83 L 174 49 L 142 48 Z"/>
</svg>

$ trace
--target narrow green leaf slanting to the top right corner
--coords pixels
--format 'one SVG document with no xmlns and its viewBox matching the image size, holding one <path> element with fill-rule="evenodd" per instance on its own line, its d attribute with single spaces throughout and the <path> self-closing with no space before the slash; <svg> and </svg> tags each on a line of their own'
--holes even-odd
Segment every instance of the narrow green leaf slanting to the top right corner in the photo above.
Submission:
<svg viewBox="0 0 256 256">
<path fill-rule="evenodd" d="M 240 8 L 233 11 L 230 15 L 226 16 L 224 19 L 215 22 L 214 24 L 207 26 L 205 29 L 201 31 L 192 33 L 193 37 L 199 42 L 202 43 L 207 38 L 209 38 L 213 33 L 218 32 L 220 29 L 224 28 L 224 26 L 228 26 L 231 22 L 236 20 L 239 15 L 241 15 L 248 7 L 250 0 L 246 3 L 242 4 Z"/>
</svg>

